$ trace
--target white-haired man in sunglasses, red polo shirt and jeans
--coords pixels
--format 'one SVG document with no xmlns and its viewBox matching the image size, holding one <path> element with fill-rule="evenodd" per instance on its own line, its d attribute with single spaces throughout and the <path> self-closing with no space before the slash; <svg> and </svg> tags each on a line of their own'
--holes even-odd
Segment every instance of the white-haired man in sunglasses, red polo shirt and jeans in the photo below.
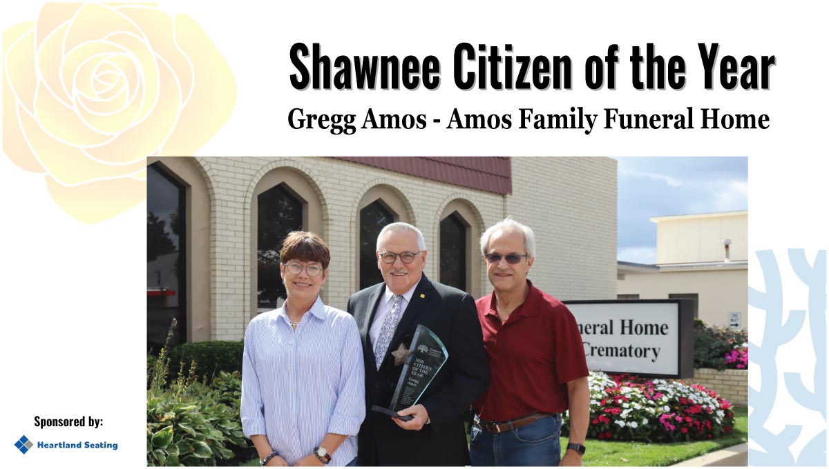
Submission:
<svg viewBox="0 0 829 469">
<path fill-rule="evenodd" d="M 587 361 L 573 314 L 526 279 L 530 227 L 507 218 L 481 237 L 494 291 L 478 299 L 489 389 L 473 404 L 473 466 L 580 466 L 590 415 Z M 561 414 L 570 444 L 561 457 Z"/>
</svg>

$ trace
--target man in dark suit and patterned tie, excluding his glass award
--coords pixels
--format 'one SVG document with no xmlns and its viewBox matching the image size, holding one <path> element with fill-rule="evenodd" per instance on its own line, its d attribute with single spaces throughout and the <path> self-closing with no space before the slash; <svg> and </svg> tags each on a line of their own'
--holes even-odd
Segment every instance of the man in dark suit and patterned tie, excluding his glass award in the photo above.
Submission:
<svg viewBox="0 0 829 469">
<path fill-rule="evenodd" d="M 464 419 L 487 389 L 489 369 L 474 299 L 423 274 L 426 245 L 419 229 L 391 223 L 377 237 L 377 266 L 384 282 L 348 300 L 363 341 L 366 406 L 388 408 L 400 379 L 392 352 L 410 345 L 423 324 L 448 351 L 448 361 L 417 404 L 402 409 L 405 422 L 367 412 L 358 436 L 360 466 L 465 466 Z M 398 361 L 400 362 L 400 361 Z"/>
</svg>

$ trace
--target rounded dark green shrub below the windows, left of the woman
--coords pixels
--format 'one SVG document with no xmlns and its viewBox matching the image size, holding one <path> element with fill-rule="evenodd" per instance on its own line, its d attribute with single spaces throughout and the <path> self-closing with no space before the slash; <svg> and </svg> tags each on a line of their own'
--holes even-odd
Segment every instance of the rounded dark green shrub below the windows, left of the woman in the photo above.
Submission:
<svg viewBox="0 0 829 469">
<path fill-rule="evenodd" d="M 184 363 L 184 373 L 190 374 L 192 362 L 196 362 L 193 374 L 200 379 L 212 380 L 221 371 L 233 373 L 242 371 L 242 341 L 211 340 L 206 342 L 188 342 L 172 347 L 169 351 L 170 363 Z M 172 380 L 172 376 L 170 376 Z"/>
</svg>

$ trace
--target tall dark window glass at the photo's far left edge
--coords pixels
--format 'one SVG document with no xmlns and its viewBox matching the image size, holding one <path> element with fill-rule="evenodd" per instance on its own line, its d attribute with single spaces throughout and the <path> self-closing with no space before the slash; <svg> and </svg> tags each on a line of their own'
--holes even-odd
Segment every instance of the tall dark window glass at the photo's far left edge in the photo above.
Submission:
<svg viewBox="0 0 829 469">
<path fill-rule="evenodd" d="M 147 168 L 147 349 L 187 341 L 185 188 L 162 166 Z"/>
</svg>

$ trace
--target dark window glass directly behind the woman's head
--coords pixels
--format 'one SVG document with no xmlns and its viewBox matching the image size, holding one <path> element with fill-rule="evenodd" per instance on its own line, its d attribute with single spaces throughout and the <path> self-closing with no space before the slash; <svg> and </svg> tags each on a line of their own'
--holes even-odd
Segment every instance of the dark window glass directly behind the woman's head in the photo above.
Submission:
<svg viewBox="0 0 829 469">
<path fill-rule="evenodd" d="M 259 233 L 257 233 L 257 286 L 259 309 L 279 308 L 285 285 L 279 275 L 279 250 L 289 232 L 303 229 L 303 203 L 279 184 L 259 194 Z"/>
</svg>

